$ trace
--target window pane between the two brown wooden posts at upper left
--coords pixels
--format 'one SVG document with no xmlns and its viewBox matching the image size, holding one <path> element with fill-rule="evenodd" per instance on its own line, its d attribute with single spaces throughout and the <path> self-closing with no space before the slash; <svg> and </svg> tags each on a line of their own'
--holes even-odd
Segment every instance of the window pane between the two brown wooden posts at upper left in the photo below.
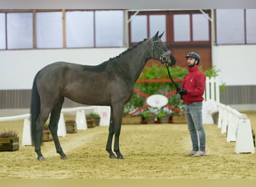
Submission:
<svg viewBox="0 0 256 187">
<path fill-rule="evenodd" d="M 62 12 L 37 12 L 37 48 L 62 48 Z"/>
</svg>

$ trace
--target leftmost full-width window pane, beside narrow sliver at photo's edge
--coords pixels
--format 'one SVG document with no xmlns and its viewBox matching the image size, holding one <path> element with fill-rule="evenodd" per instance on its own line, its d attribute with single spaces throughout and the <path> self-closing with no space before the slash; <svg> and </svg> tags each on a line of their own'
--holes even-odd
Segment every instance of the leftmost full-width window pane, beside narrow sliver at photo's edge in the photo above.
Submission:
<svg viewBox="0 0 256 187">
<path fill-rule="evenodd" d="M 7 48 L 33 48 L 33 13 L 7 13 Z"/>
</svg>

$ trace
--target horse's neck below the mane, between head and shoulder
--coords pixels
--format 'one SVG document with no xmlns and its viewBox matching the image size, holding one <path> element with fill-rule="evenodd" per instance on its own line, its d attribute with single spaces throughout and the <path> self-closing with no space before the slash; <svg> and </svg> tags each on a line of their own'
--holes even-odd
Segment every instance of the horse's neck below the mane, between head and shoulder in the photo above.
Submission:
<svg viewBox="0 0 256 187">
<path fill-rule="evenodd" d="M 141 74 L 146 62 L 150 60 L 150 47 L 146 46 L 147 43 L 141 43 L 123 57 L 125 58 L 124 66 L 126 70 L 129 70 L 129 76 L 132 82 L 135 82 L 138 79 L 138 76 Z M 121 64 L 122 65 L 122 64 Z"/>
</svg>

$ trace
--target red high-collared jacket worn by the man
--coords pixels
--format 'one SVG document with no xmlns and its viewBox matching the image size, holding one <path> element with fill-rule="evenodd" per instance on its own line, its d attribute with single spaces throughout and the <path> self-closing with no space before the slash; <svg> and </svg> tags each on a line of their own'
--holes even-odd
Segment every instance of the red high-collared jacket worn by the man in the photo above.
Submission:
<svg viewBox="0 0 256 187">
<path fill-rule="evenodd" d="M 182 85 L 182 88 L 187 91 L 186 95 L 183 95 L 185 104 L 204 100 L 205 79 L 204 73 L 198 66 L 189 67 L 189 73 L 186 74 Z"/>
</svg>

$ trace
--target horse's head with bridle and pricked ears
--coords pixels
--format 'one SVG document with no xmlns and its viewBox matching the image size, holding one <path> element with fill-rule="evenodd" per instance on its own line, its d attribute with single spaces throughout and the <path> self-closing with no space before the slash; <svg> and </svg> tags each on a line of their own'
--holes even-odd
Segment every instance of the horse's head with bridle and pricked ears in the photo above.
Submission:
<svg viewBox="0 0 256 187">
<path fill-rule="evenodd" d="M 173 66 L 176 63 L 174 55 L 171 51 L 167 49 L 165 43 L 162 42 L 161 37 L 164 33 L 159 34 L 159 31 L 150 38 L 150 43 L 153 50 L 154 59 L 159 60 L 162 64 L 168 64 L 168 66 Z"/>
</svg>

